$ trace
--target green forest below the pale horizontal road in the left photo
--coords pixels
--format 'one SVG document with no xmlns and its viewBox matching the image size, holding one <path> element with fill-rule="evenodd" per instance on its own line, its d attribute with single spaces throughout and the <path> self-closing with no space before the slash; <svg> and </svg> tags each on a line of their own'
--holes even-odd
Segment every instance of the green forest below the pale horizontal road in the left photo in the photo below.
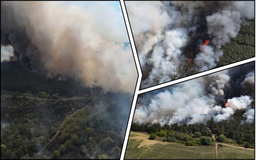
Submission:
<svg viewBox="0 0 256 160">
<path fill-rule="evenodd" d="M 120 111 L 123 105 L 129 106 L 125 100 L 122 104 L 107 97 L 47 102 L 5 98 L 1 101 L 1 158 L 120 156 L 128 118 L 127 113 Z M 56 140 L 41 155 L 35 155 L 62 122 Z"/>
</svg>

